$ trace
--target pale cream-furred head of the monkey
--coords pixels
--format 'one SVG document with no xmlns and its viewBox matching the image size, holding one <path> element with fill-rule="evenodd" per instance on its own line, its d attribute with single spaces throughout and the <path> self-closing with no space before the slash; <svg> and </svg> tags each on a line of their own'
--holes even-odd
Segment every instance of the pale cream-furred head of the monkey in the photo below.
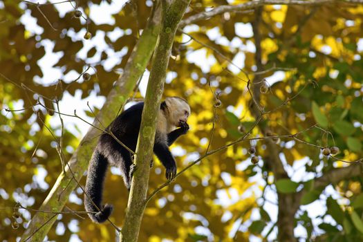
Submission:
<svg viewBox="0 0 363 242">
<path fill-rule="evenodd" d="M 181 97 L 167 97 L 165 104 L 171 124 L 179 127 L 180 122 L 187 122 L 190 115 L 190 106 L 186 100 Z"/>
</svg>

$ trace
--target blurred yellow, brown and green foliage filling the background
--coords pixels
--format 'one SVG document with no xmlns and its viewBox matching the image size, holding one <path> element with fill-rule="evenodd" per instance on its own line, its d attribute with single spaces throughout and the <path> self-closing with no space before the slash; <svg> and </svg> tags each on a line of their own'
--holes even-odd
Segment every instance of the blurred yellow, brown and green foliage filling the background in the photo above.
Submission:
<svg viewBox="0 0 363 242">
<path fill-rule="evenodd" d="M 58 119 L 52 100 L 62 100 L 68 93 L 82 99 L 91 93 L 106 96 L 145 28 L 152 2 L 127 3 L 122 10 L 113 10 L 109 23 L 93 11 L 95 6 L 106 8 L 111 3 L 77 4 L 88 21 L 74 16 L 70 2 L 37 6 L 0 1 L 1 207 L 14 207 L 19 201 L 37 209 L 44 201 L 62 171 L 55 138 L 49 132 L 61 135 L 59 122 L 51 121 Z M 185 19 L 225 4 L 192 1 Z M 140 241 L 248 241 L 252 235 L 270 240 L 276 237 L 273 228 L 280 218 L 270 208 L 276 203 L 274 210 L 292 209 L 282 206 L 281 198 L 288 196 L 295 199 L 291 205 L 297 206 L 288 221 L 302 230 L 304 239 L 362 240 L 362 165 L 347 163 L 362 158 L 362 15 L 359 3 L 266 4 L 259 38 L 252 31 L 258 17 L 253 10 L 225 12 L 177 32 L 164 94 L 183 96 L 192 106 L 191 130 L 173 146 L 178 170 L 205 154 L 211 133 L 210 151 L 242 138 L 251 128 L 248 138 L 266 137 L 269 131 L 270 136 L 278 136 L 277 144 L 268 149 L 271 144 L 266 139 L 237 142 L 187 169 L 149 201 Z M 41 30 L 28 26 L 32 18 Z M 86 31 L 93 35 L 90 40 L 83 39 Z M 263 70 L 256 58 L 259 46 Z M 39 81 L 47 73 L 39 59 L 48 53 L 59 57 L 52 59 L 58 71 Z M 90 80 L 82 78 L 84 72 L 91 74 Z M 255 89 L 263 78 L 267 93 Z M 252 100 L 250 90 L 258 100 Z M 45 107 L 32 106 L 38 98 Z M 221 106 L 215 105 L 216 100 L 221 100 Z M 258 117 L 251 108 L 254 101 L 265 113 L 257 127 Z M 74 109 L 60 108 L 68 109 L 66 113 Z M 97 113 L 95 106 L 91 109 Z M 77 113 L 82 110 L 84 117 L 94 118 L 87 106 L 79 107 Z M 80 136 L 76 129 L 64 130 L 66 160 L 80 145 Z M 258 165 L 250 162 L 251 146 L 261 158 Z M 337 155 L 322 155 L 322 148 L 333 146 L 339 147 Z M 349 167 L 351 172 L 346 172 Z M 117 170 L 112 171 L 106 179 L 104 201 L 113 203 L 111 221 L 122 227 L 128 192 Z M 149 193 L 164 182 L 164 168 L 154 162 Z M 84 211 L 82 198 L 82 189 L 77 188 L 64 210 Z M 317 216 L 309 214 L 315 205 L 326 210 Z M 33 212 L 19 212 L 21 226 L 12 230 L 13 210 L 0 210 L 1 241 L 21 236 Z M 63 214 L 48 239 L 68 241 L 75 234 L 82 241 L 111 241 L 115 230 L 109 223 L 91 223 L 84 214 Z"/>
</svg>

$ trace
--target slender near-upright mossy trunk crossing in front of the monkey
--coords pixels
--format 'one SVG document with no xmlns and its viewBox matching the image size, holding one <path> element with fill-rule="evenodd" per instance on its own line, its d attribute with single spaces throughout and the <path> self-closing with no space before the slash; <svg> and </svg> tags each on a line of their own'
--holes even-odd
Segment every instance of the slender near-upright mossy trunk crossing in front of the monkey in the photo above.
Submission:
<svg viewBox="0 0 363 242">
<path fill-rule="evenodd" d="M 156 118 L 160 110 L 160 100 L 164 89 L 171 46 L 180 19 L 183 17 L 190 0 L 175 0 L 169 6 L 163 4 L 162 29 L 147 85 L 144 109 L 138 145 L 136 147 L 136 171 L 133 174 L 127 212 L 122 227 L 120 241 L 138 241 L 138 234 L 147 204 L 147 186 L 149 183 L 150 160 L 153 156 L 153 143 L 156 131 Z"/>
</svg>

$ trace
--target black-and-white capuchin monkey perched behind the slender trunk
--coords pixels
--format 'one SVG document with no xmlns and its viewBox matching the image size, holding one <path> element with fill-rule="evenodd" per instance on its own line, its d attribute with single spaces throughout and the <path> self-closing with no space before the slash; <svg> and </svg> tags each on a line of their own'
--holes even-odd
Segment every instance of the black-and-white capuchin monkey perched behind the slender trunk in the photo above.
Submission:
<svg viewBox="0 0 363 242">
<path fill-rule="evenodd" d="M 144 102 L 131 106 L 106 128 L 106 131 L 111 131 L 118 140 L 134 152 L 138 142 L 143 107 Z M 187 124 L 189 114 L 189 104 L 181 97 L 167 97 L 160 104 L 153 153 L 164 165 L 167 180 L 172 180 L 176 176 L 176 162 L 169 151 L 169 146 L 189 130 Z M 131 153 L 108 133 L 102 133 L 89 163 L 86 179 L 88 196 L 84 196 L 84 207 L 87 212 L 93 212 L 89 213 L 89 216 L 95 223 L 106 221 L 113 210 L 112 205 L 102 205 L 102 189 L 109 164 L 120 167 L 124 185 L 130 189 L 133 173 Z"/>
</svg>

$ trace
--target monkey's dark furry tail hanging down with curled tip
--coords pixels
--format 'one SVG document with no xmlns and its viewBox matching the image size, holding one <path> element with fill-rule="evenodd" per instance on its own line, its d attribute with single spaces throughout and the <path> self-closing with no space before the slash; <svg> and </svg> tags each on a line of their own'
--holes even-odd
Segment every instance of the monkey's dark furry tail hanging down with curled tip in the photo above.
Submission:
<svg viewBox="0 0 363 242">
<path fill-rule="evenodd" d="M 96 148 L 89 162 L 85 189 L 86 194 L 84 194 L 84 207 L 89 212 L 91 220 L 95 223 L 103 223 L 106 221 L 113 210 L 112 205 L 105 204 L 102 206 L 102 190 L 108 165 L 109 162 L 107 159 Z"/>
</svg>

